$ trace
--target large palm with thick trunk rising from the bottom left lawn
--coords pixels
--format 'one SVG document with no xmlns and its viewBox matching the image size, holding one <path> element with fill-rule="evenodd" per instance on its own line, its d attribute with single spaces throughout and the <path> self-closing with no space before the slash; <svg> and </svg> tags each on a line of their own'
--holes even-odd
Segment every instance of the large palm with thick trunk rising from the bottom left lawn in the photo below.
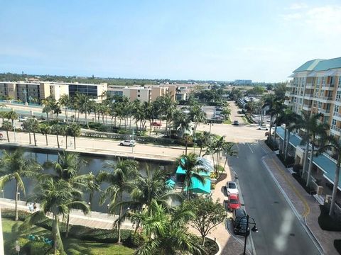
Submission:
<svg viewBox="0 0 341 255">
<path fill-rule="evenodd" d="M 24 225 L 31 226 L 41 222 L 45 220 L 46 214 L 52 213 L 54 254 L 65 254 L 63 242 L 60 238 L 59 219 L 60 216 L 69 215 L 70 208 L 80 209 L 85 214 L 90 211 L 87 204 L 82 201 L 82 192 L 63 179 L 50 177 L 40 179 L 34 194 L 35 196 L 32 199 L 40 203 L 40 210 L 28 217 Z"/>
</svg>

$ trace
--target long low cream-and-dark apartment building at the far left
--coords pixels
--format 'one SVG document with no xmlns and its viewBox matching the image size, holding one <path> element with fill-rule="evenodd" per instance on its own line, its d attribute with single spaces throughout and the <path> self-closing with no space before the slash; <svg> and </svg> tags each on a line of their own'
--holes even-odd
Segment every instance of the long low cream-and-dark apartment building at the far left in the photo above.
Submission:
<svg viewBox="0 0 341 255">
<path fill-rule="evenodd" d="M 56 100 L 60 96 L 67 94 L 75 96 L 76 93 L 87 94 L 102 100 L 102 94 L 107 91 L 107 84 L 78 84 L 63 82 L 26 82 L 26 81 L 1 81 L 0 95 L 13 98 L 22 102 L 29 102 L 33 99 L 40 102 L 41 100 L 52 95 Z"/>
</svg>

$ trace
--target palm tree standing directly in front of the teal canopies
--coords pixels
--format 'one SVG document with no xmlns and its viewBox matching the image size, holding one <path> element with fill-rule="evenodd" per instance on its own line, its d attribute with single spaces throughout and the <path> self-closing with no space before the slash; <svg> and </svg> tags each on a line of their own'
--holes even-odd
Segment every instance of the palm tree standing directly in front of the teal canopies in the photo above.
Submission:
<svg viewBox="0 0 341 255">
<path fill-rule="evenodd" d="M 206 178 L 200 175 L 200 172 L 208 173 L 208 170 L 202 165 L 202 162 L 198 160 L 197 154 L 191 152 L 188 155 L 182 155 L 176 160 L 177 165 L 181 166 L 185 170 L 185 176 L 183 180 L 183 190 L 187 189 L 187 198 L 190 199 L 190 188 L 193 185 L 193 177 L 195 177 L 200 183 L 205 184 Z"/>
</svg>

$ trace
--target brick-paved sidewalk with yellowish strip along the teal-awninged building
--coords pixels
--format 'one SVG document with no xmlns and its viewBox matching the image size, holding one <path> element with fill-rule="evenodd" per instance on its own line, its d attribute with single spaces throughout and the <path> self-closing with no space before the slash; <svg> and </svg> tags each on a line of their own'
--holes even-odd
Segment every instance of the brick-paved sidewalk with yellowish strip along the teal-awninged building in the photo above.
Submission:
<svg viewBox="0 0 341 255">
<path fill-rule="evenodd" d="M 341 233 L 325 231 L 320 228 L 318 225 L 318 217 L 320 216 L 319 203 L 293 178 L 276 157 L 276 154 L 264 144 L 264 141 L 259 141 L 259 144 L 267 152 L 262 159 L 263 163 L 274 175 L 284 193 L 286 193 L 286 196 L 298 212 L 298 217 L 313 235 L 313 239 L 322 246 L 324 254 L 337 255 L 333 242 L 335 239 L 341 239 Z"/>
</svg>

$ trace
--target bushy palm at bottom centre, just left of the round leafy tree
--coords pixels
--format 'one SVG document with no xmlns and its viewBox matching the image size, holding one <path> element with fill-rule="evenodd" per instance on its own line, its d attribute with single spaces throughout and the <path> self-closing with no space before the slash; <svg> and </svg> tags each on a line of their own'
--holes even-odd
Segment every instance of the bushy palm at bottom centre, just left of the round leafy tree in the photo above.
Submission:
<svg viewBox="0 0 341 255">
<path fill-rule="evenodd" d="M 152 214 L 149 213 L 152 210 Z M 151 208 L 131 214 L 131 219 L 141 222 L 142 232 L 147 237 L 136 255 L 202 254 L 203 249 L 195 234 L 188 232 L 186 225 L 195 217 L 188 208 L 179 206 L 168 214 L 163 205 L 155 200 Z"/>
</svg>

